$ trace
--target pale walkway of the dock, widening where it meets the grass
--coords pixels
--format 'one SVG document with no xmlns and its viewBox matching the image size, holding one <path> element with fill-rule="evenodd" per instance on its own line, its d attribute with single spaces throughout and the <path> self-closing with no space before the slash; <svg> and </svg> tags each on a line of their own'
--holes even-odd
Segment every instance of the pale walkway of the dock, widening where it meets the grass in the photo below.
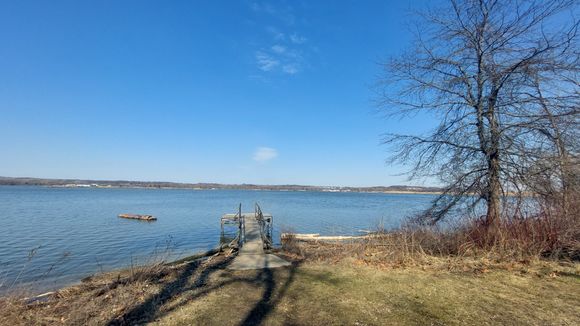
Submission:
<svg viewBox="0 0 580 326">
<path fill-rule="evenodd" d="M 262 217 L 270 217 L 264 214 Z M 258 221 L 257 213 L 243 213 L 242 228 L 244 241 L 238 255 L 228 269 L 247 270 L 262 268 L 277 268 L 290 265 L 286 260 L 272 254 L 264 252 L 264 241 L 262 239 L 262 229 Z"/>
</svg>

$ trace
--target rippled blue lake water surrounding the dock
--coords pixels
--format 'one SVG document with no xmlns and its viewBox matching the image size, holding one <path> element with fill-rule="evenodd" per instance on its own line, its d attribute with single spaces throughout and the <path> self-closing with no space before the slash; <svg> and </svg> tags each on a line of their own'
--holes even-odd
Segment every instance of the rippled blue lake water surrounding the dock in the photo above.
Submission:
<svg viewBox="0 0 580 326">
<path fill-rule="evenodd" d="M 214 248 L 220 220 L 253 212 L 258 202 L 280 231 L 327 235 L 398 226 L 433 195 L 189 189 L 97 189 L 0 186 L 0 292 L 16 285 L 48 290 L 99 271 Z M 245 209 L 244 209 L 245 208 Z M 120 213 L 151 214 L 156 222 Z"/>
</svg>

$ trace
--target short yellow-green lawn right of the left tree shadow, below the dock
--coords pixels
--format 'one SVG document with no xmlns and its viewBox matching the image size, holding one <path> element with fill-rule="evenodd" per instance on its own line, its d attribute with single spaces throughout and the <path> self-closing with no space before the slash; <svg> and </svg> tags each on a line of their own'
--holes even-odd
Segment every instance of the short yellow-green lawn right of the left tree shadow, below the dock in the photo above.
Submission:
<svg viewBox="0 0 580 326">
<path fill-rule="evenodd" d="M 261 273 L 264 276 L 264 273 Z M 255 279 L 259 271 L 216 275 Z M 164 316 L 160 325 L 558 325 L 579 321 L 568 276 L 381 271 L 345 259 L 233 282 Z M 268 281 L 270 280 L 270 281 Z M 575 287 L 574 287 L 575 286 Z M 256 312 L 259 311 L 259 314 Z"/>
</svg>

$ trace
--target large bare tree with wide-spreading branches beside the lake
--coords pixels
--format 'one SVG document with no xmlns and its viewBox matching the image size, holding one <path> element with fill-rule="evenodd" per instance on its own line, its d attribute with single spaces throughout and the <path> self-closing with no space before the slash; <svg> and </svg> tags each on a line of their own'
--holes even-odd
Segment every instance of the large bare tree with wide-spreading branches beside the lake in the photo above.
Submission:
<svg viewBox="0 0 580 326">
<path fill-rule="evenodd" d="M 459 203 L 483 201 L 486 225 L 495 228 L 506 194 L 534 190 L 531 174 L 572 170 L 576 9 L 569 0 L 451 0 L 420 13 L 413 47 L 384 65 L 379 104 L 389 115 L 439 121 L 425 135 L 385 138 L 393 162 L 412 164 L 411 178 L 436 176 L 446 185 L 424 218 L 437 222 Z"/>
</svg>

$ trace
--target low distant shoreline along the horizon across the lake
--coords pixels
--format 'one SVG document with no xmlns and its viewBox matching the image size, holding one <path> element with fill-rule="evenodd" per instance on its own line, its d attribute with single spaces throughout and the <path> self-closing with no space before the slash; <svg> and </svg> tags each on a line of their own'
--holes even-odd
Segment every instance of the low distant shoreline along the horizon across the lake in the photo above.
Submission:
<svg viewBox="0 0 580 326">
<path fill-rule="evenodd" d="M 254 190 L 254 191 L 312 191 L 339 193 L 385 193 L 437 195 L 442 190 L 437 187 L 420 186 L 304 186 L 304 185 L 256 185 L 256 184 L 219 184 L 219 183 L 177 183 L 160 181 L 125 180 L 81 180 L 81 179 L 42 179 L 0 177 L 1 186 L 44 186 L 53 188 L 126 188 L 126 189 L 191 189 L 191 190 Z"/>
</svg>

